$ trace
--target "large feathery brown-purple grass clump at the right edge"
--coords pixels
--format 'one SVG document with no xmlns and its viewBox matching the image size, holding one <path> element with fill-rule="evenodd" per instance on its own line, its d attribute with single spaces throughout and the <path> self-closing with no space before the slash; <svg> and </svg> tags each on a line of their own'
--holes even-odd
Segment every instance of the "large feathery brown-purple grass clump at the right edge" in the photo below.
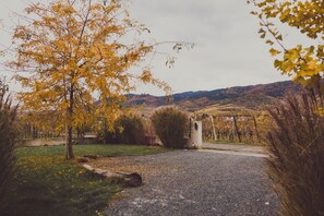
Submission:
<svg viewBox="0 0 324 216">
<path fill-rule="evenodd" d="M 324 118 L 319 97 L 289 97 L 269 111 L 268 175 L 281 215 L 324 214 Z"/>
</svg>

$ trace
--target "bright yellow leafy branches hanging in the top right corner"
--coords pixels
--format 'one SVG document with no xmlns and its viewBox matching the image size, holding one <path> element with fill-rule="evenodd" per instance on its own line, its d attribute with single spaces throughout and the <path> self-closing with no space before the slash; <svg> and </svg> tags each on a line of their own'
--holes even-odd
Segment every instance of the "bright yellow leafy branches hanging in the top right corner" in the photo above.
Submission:
<svg viewBox="0 0 324 216">
<path fill-rule="evenodd" d="M 255 7 L 251 14 L 260 20 L 260 37 L 277 58 L 275 68 L 304 86 L 317 85 L 324 72 L 324 1 L 248 0 L 248 3 Z M 275 25 L 278 21 L 298 29 L 312 45 L 286 47 L 283 34 Z"/>
</svg>

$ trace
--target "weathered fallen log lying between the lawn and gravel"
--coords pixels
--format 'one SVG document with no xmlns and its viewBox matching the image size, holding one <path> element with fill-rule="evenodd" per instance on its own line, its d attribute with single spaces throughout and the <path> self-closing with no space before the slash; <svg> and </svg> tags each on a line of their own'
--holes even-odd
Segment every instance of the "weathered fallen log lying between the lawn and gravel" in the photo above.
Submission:
<svg viewBox="0 0 324 216">
<path fill-rule="evenodd" d="M 103 169 L 93 168 L 89 165 L 83 167 L 100 177 L 112 178 L 124 187 L 140 187 L 142 185 L 142 177 L 137 172 L 112 172 Z"/>
</svg>

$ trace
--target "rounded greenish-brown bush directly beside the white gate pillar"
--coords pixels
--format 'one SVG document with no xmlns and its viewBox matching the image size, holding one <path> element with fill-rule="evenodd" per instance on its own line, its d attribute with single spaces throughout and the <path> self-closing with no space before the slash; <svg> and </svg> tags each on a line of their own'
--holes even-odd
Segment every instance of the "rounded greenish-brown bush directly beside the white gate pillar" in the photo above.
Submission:
<svg viewBox="0 0 324 216">
<path fill-rule="evenodd" d="M 166 107 L 152 116 L 153 125 L 165 147 L 183 148 L 188 133 L 188 115 L 176 107 Z"/>
</svg>

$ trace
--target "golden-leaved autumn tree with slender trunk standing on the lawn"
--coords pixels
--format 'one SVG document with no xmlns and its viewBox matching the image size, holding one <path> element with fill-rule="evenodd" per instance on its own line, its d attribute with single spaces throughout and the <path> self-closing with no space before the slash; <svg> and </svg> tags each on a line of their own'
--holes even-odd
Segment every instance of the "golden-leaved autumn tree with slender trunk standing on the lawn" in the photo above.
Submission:
<svg viewBox="0 0 324 216">
<path fill-rule="evenodd" d="M 25 11 L 25 23 L 13 35 L 16 59 L 9 65 L 28 72 L 15 76 L 26 89 L 20 95 L 24 111 L 50 116 L 58 129 L 65 129 L 67 158 L 74 157 L 73 130 L 95 116 L 112 125 L 134 81 L 169 91 L 142 67 L 155 45 L 133 40 L 134 32 L 147 28 L 130 19 L 121 1 L 51 0 L 31 3 Z M 141 73 L 132 73 L 136 65 Z"/>
</svg>

